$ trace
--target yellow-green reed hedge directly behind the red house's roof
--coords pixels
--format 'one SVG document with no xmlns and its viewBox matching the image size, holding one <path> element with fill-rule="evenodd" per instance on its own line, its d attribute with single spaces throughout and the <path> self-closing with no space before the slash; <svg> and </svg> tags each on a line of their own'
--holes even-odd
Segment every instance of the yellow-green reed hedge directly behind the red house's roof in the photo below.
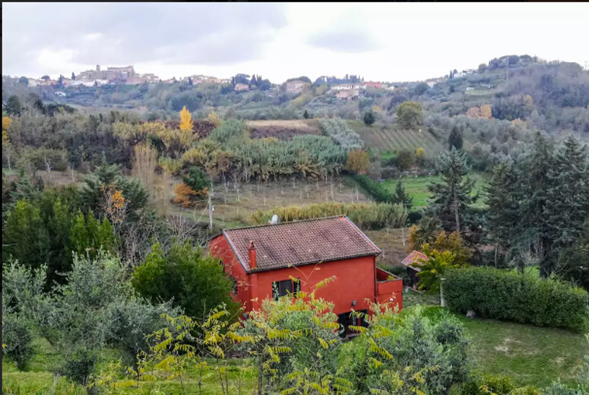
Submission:
<svg viewBox="0 0 589 395">
<path fill-rule="evenodd" d="M 389 203 L 316 203 L 306 206 L 276 207 L 272 210 L 257 210 L 250 215 L 254 225 L 268 223 L 274 214 L 280 222 L 345 215 L 360 229 L 381 229 L 402 227 L 407 221 L 407 210 L 403 205 Z"/>
</svg>

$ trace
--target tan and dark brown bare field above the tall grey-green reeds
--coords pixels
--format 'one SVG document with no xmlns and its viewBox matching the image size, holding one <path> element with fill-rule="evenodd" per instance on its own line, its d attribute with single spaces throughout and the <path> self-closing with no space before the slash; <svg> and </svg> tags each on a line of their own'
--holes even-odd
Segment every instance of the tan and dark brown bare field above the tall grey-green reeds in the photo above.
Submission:
<svg viewBox="0 0 589 395">
<path fill-rule="evenodd" d="M 293 120 L 249 120 L 246 125 L 250 129 L 252 139 L 275 137 L 289 140 L 299 135 L 321 135 L 319 122 L 315 119 Z"/>
</svg>

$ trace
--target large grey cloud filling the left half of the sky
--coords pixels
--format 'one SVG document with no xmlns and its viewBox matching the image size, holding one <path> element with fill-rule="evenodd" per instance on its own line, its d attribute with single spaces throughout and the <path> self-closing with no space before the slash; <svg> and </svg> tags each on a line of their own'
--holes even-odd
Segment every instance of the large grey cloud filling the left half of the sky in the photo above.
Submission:
<svg viewBox="0 0 589 395">
<path fill-rule="evenodd" d="M 286 25 L 282 4 L 80 3 L 2 5 L 2 69 L 31 69 L 43 49 L 71 62 L 230 65 L 259 59 Z M 100 34 L 91 40 L 87 35 Z"/>
</svg>

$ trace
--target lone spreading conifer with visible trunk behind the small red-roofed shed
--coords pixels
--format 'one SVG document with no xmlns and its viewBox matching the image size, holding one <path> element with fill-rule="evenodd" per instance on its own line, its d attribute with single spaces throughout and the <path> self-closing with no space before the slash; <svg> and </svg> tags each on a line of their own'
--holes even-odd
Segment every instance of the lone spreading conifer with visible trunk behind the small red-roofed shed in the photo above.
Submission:
<svg viewBox="0 0 589 395">
<path fill-rule="evenodd" d="M 429 199 L 428 212 L 438 217 L 447 232 L 464 232 L 465 211 L 474 202 L 471 191 L 475 184 L 475 180 L 468 177 L 469 169 L 464 152 L 452 148 L 449 152 L 442 153 L 436 169 L 442 182 L 432 182 L 428 186 L 429 192 L 434 195 Z"/>
</svg>

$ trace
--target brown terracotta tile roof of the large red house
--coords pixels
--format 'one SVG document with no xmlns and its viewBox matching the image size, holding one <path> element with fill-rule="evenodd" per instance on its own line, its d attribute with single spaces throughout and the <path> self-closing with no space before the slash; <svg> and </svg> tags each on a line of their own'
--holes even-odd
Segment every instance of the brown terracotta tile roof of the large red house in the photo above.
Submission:
<svg viewBox="0 0 589 395">
<path fill-rule="evenodd" d="M 380 249 L 343 216 L 226 229 L 223 235 L 248 272 L 250 240 L 256 245 L 256 271 L 380 253 Z"/>
</svg>

